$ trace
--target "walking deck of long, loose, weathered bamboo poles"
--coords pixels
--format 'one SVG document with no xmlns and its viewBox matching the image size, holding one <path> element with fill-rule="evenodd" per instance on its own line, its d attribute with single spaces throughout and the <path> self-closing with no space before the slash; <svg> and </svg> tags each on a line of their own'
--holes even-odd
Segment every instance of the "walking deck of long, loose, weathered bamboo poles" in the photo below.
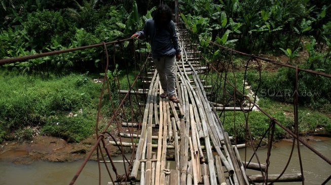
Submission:
<svg viewBox="0 0 331 185">
<path fill-rule="evenodd" d="M 215 111 L 215 107 L 222 105 L 208 101 L 205 91 L 208 86 L 199 78 L 207 68 L 196 62 L 196 52 L 183 38 L 185 30 L 177 31 L 182 50 L 182 60 L 176 62 L 176 92 L 180 103 L 160 98 L 159 77 L 155 70 L 150 71 L 141 133 L 134 135 L 139 142 L 135 146 L 130 180 L 137 184 L 225 185 L 250 184 L 254 178 L 263 179 L 261 174 L 245 174 L 246 168 L 264 171 L 266 166 L 252 162 L 247 165 L 240 159 L 238 147 L 242 145 L 232 145 Z M 133 123 L 123 124 L 133 126 Z M 132 147 L 131 143 L 123 145 Z M 301 175 L 293 178 L 300 179 Z"/>
</svg>

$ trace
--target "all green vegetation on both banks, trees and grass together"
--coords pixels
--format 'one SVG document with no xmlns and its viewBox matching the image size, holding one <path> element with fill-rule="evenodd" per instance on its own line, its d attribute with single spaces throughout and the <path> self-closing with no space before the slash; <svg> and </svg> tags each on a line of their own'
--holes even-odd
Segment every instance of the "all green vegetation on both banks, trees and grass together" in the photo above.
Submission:
<svg viewBox="0 0 331 185">
<path fill-rule="evenodd" d="M 164 2 L 174 7 L 173 1 Z M 128 38 L 143 27 L 159 3 L 156 0 L 0 0 L 0 59 Z M 209 56 L 205 58 L 211 63 L 226 58 L 226 54 L 217 47 L 210 47 L 206 40 L 251 54 L 285 54 L 289 64 L 331 73 L 331 7 L 326 0 L 179 0 L 179 7 L 182 20 L 197 34 L 199 47 L 208 51 L 205 55 Z M 120 75 L 120 70 L 127 67 L 123 65 L 132 62 L 132 56 L 126 53 L 132 46 L 125 43 L 117 47 L 115 50 L 121 52 L 115 57 L 121 62 L 112 64 L 107 71 L 111 87 L 116 80 L 123 80 L 114 75 L 114 71 L 119 70 Z M 108 50 L 111 53 L 113 48 Z M 296 60 L 303 51 L 307 51 L 307 59 Z M 104 56 L 100 47 L 0 66 L 0 142 L 5 138 L 30 139 L 34 127 L 42 127 L 43 133 L 61 136 L 70 142 L 80 141 L 93 133 L 100 84 L 93 83 L 91 75 L 84 73 L 103 73 L 101 60 Z M 240 68 L 242 63 L 234 65 Z M 72 74 L 76 72 L 79 74 Z M 230 73 L 228 79 L 241 82 L 243 74 L 237 75 L 240 80 Z M 130 74 L 128 78 L 134 76 Z M 262 102 L 267 102 L 262 104 L 263 108 L 276 104 L 274 100 L 292 101 L 293 70 L 266 72 L 262 78 L 259 84 L 256 71 L 247 73 L 253 90 L 263 97 Z M 301 105 L 331 111 L 331 80 L 303 72 L 299 78 Z M 128 88 L 127 82 L 120 84 Z M 242 88 L 242 84 L 238 84 Z M 217 89 L 214 93 L 234 94 L 230 86 L 226 87 L 226 92 L 222 90 Z M 276 96 L 276 92 L 281 92 L 282 96 Z M 231 104 L 231 100 L 217 101 Z M 269 109 L 275 110 L 272 115 L 284 125 L 291 126 L 290 118 L 283 114 L 284 106 Z M 318 127 L 330 131 L 329 118 L 317 111 L 302 110 L 300 129 L 303 134 Z M 103 111 L 108 115 L 112 108 L 105 106 Z M 70 113 L 78 116 L 68 116 Z M 224 115 L 224 127 L 230 134 L 236 129 L 238 140 L 244 140 L 244 116 L 237 113 L 236 128 L 232 125 L 233 120 L 229 120 L 233 119 L 233 113 Z M 268 127 L 268 119 L 259 112 L 252 112 L 250 116 L 256 120 L 249 123 L 254 137 L 260 138 L 263 135 L 260 131 Z M 278 137 L 284 136 L 278 127 L 276 132 Z"/>
</svg>

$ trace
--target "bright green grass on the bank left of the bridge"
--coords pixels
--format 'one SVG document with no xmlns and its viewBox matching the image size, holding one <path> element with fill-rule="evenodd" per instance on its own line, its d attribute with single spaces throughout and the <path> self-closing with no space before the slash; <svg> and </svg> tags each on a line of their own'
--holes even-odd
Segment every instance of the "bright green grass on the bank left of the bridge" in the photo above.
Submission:
<svg viewBox="0 0 331 185">
<path fill-rule="evenodd" d="M 11 133 L 28 136 L 25 127 L 44 127 L 42 134 L 78 142 L 94 131 L 101 84 L 91 75 L 63 77 L 0 73 L 0 142 Z M 77 117 L 69 117 L 77 114 Z"/>
</svg>

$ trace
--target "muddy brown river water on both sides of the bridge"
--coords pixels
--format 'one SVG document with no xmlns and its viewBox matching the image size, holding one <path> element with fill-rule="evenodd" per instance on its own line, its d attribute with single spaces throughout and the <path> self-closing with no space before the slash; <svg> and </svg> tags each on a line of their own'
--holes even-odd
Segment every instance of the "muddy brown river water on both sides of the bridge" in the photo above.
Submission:
<svg viewBox="0 0 331 185">
<path fill-rule="evenodd" d="M 310 137 L 308 141 L 317 151 L 324 156 L 331 157 L 331 138 L 330 137 Z M 279 174 L 284 168 L 291 150 L 291 141 L 281 141 L 274 144 L 271 151 L 269 174 Z M 300 146 L 303 159 L 303 169 L 305 184 L 321 184 L 329 175 L 331 175 L 331 165 L 320 159 L 305 146 Z M 6 155 L 0 155 L 0 184 L 69 184 L 72 177 L 76 174 L 83 159 L 73 162 L 49 162 L 45 160 L 35 160 L 28 164 L 16 164 L 7 160 L 4 156 L 24 156 L 28 155 L 26 150 L 7 151 Z M 244 160 L 245 150 L 240 149 L 241 159 Z M 247 154 L 251 150 L 247 149 Z M 265 163 L 267 149 L 260 149 L 258 154 L 260 161 Z M 2 154 L 2 153 L 0 153 Z M 249 155 L 250 156 L 250 155 Z M 253 160 L 256 161 L 256 160 Z M 122 169 L 121 169 L 122 168 Z M 123 167 L 118 166 L 119 171 Z M 298 150 L 295 149 L 293 158 L 290 161 L 285 173 L 300 173 L 298 160 Z M 247 174 L 259 174 L 253 170 L 247 170 Z M 105 168 L 101 166 L 101 184 L 107 184 L 111 181 Z M 84 167 L 75 184 L 99 184 L 99 170 L 95 161 L 89 161 Z M 302 184 L 302 182 L 278 182 L 275 184 Z M 327 184 L 331 184 L 328 182 Z"/>
</svg>

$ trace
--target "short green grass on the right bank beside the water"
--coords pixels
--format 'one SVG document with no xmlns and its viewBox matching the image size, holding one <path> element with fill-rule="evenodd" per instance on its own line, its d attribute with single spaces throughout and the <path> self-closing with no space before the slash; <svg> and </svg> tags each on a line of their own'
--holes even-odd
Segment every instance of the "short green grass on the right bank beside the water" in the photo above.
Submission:
<svg viewBox="0 0 331 185">
<path fill-rule="evenodd" d="M 269 98 L 262 98 L 259 106 L 267 112 L 271 117 L 277 119 L 284 127 L 293 131 L 294 115 L 293 106 L 278 102 Z M 331 119 L 316 110 L 306 107 L 299 107 L 298 123 L 300 135 L 308 135 L 314 132 L 316 128 L 324 128 L 326 132 L 331 133 Z M 249 117 L 248 126 L 254 139 L 261 139 L 269 128 L 270 119 L 260 111 L 252 111 L 249 114 L 242 112 L 225 112 L 221 116 L 224 122 L 223 126 L 229 135 L 237 135 L 237 140 L 242 142 L 245 140 L 245 116 Z M 288 134 L 280 126 L 276 125 L 275 138 L 287 137 Z"/>
</svg>

